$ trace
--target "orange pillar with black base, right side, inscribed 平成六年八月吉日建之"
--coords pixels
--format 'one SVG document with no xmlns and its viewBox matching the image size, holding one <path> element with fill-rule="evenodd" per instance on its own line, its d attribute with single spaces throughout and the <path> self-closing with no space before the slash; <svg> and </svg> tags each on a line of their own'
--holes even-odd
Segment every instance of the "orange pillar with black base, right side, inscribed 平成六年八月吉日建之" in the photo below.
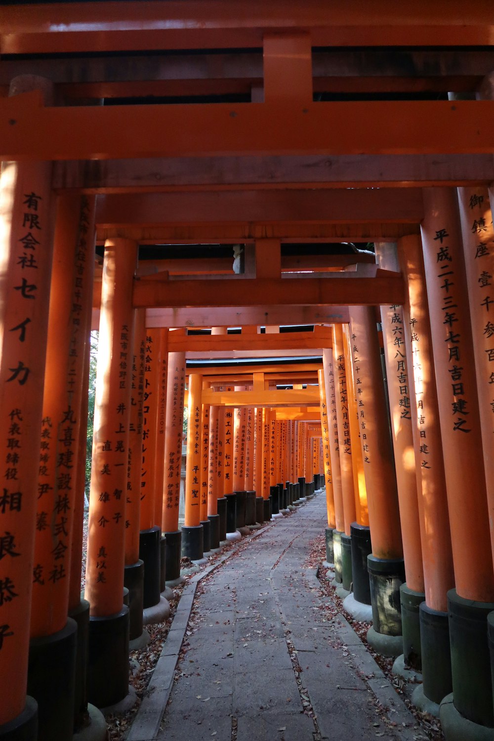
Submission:
<svg viewBox="0 0 494 741">
<path fill-rule="evenodd" d="M 375 256 L 381 268 L 399 272 L 396 246 L 375 243 Z M 407 328 L 401 306 L 381 306 L 381 325 L 386 361 L 387 390 L 390 402 L 391 433 L 395 453 L 396 484 L 400 507 L 401 539 L 406 583 L 401 585 L 403 657 L 406 667 L 421 671 L 419 605 L 424 602 L 421 529 L 418 514 L 418 485 L 413 440 L 413 379 L 409 377 Z M 416 345 L 418 347 L 418 345 Z M 421 349 L 421 348 L 418 348 Z M 407 353 L 408 350 L 408 353 Z M 427 457 L 427 456 L 426 456 Z M 444 593 L 444 597 L 446 594 Z M 398 664 L 397 664 L 398 666 Z"/>
</svg>

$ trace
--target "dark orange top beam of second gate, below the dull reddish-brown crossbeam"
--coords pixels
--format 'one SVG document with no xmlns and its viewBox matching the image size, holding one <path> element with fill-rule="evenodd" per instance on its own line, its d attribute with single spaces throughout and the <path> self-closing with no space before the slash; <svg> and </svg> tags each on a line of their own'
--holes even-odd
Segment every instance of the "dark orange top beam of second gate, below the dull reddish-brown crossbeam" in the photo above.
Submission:
<svg viewBox="0 0 494 741">
<path fill-rule="evenodd" d="M 424 217 L 419 188 L 233 190 L 100 196 L 96 224 L 153 226 L 208 222 L 393 222 Z"/>
</svg>

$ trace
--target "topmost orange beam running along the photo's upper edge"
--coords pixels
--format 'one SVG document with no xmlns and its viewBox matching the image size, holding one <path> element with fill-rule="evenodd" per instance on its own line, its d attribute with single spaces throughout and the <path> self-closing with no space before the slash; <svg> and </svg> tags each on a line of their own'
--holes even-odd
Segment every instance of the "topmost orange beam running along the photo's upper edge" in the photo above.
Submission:
<svg viewBox="0 0 494 741">
<path fill-rule="evenodd" d="M 56 10 L 53 10 L 55 8 Z M 490 0 L 81 2 L 4 7 L 2 54 L 260 47 L 267 31 L 309 30 L 314 46 L 492 44 Z M 383 22 L 386 19 L 386 22 Z M 63 32 L 60 29 L 63 28 Z"/>
</svg>

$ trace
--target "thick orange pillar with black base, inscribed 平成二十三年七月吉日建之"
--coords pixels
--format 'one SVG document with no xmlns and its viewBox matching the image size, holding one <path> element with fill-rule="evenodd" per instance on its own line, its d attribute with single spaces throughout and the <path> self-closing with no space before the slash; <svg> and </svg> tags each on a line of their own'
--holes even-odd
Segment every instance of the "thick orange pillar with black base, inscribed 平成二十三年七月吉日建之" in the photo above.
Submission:
<svg viewBox="0 0 494 741">
<path fill-rule="evenodd" d="M 475 221 L 473 216 L 470 228 L 476 230 Z M 459 717 L 492 727 L 485 631 L 487 614 L 494 609 L 493 558 L 477 382 L 471 362 L 474 343 L 454 189 L 424 189 L 421 236 L 456 585 L 447 594 L 454 702 L 447 703 L 446 713 L 457 711 Z M 485 306 L 481 310 L 487 334 L 488 311 Z"/>
</svg>

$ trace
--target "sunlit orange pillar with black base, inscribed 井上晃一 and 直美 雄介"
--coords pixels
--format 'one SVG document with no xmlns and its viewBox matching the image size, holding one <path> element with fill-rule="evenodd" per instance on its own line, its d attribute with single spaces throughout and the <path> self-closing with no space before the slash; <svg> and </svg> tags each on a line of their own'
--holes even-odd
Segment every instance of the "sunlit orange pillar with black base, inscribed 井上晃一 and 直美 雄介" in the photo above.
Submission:
<svg viewBox="0 0 494 741">
<path fill-rule="evenodd" d="M 97 707 L 128 694 L 129 614 L 123 595 L 136 261 L 136 242 L 105 243 L 85 591 L 91 614 L 88 697 Z M 109 630 L 111 637 L 101 642 Z"/>
</svg>

